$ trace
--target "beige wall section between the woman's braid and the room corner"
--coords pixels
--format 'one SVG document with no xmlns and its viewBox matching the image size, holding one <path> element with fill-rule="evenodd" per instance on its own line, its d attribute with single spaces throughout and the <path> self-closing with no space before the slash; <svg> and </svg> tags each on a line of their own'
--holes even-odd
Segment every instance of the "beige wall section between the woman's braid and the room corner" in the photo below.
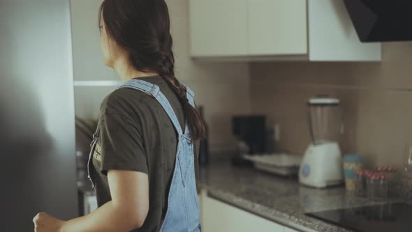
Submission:
<svg viewBox="0 0 412 232">
<path fill-rule="evenodd" d="M 205 106 L 212 145 L 233 144 L 230 119 L 251 112 L 249 64 L 193 61 L 189 56 L 189 1 L 166 0 L 172 22 L 177 78 Z"/>
</svg>

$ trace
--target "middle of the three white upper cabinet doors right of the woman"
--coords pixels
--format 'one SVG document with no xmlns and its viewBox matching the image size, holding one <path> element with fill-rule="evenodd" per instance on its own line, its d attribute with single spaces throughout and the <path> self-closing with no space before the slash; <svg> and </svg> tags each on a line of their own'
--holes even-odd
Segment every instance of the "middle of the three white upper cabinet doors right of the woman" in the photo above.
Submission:
<svg viewBox="0 0 412 232">
<path fill-rule="evenodd" d="M 249 55 L 307 54 L 306 0 L 247 0 Z"/>
</svg>

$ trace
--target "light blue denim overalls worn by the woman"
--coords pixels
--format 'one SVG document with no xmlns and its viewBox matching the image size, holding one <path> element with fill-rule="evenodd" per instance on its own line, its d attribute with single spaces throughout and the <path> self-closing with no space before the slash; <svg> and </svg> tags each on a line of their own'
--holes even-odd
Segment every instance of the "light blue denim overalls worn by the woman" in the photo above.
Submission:
<svg viewBox="0 0 412 232">
<path fill-rule="evenodd" d="M 136 89 L 153 96 L 168 114 L 177 131 L 178 143 L 175 168 L 168 195 L 168 210 L 161 226 L 161 232 L 200 232 L 200 211 L 196 189 L 194 152 L 189 126 L 186 124 L 185 131 L 182 131 L 182 126 L 180 126 L 172 106 L 170 106 L 168 99 L 160 92 L 159 86 L 143 80 L 133 79 L 125 82 L 119 88 Z M 191 106 L 194 107 L 194 94 L 188 87 L 186 89 L 187 99 Z M 92 152 L 96 146 L 98 133 L 99 129 L 94 136 Z M 89 168 L 92 152 L 89 157 Z"/>
</svg>

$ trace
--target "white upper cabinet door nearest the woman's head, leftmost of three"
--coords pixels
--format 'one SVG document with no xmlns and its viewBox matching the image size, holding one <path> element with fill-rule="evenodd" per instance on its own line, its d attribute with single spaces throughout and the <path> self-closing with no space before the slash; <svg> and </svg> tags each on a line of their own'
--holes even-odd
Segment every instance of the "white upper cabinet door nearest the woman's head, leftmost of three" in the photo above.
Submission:
<svg viewBox="0 0 412 232">
<path fill-rule="evenodd" d="M 190 0 L 192 57 L 247 55 L 247 0 Z"/>
</svg>

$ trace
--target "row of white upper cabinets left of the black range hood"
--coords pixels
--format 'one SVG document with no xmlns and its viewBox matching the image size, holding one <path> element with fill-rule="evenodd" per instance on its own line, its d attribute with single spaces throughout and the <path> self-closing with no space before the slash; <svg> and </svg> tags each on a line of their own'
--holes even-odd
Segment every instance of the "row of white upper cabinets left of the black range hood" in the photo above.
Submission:
<svg viewBox="0 0 412 232">
<path fill-rule="evenodd" d="M 380 61 L 360 43 L 342 0 L 189 0 L 191 57 Z"/>
</svg>

